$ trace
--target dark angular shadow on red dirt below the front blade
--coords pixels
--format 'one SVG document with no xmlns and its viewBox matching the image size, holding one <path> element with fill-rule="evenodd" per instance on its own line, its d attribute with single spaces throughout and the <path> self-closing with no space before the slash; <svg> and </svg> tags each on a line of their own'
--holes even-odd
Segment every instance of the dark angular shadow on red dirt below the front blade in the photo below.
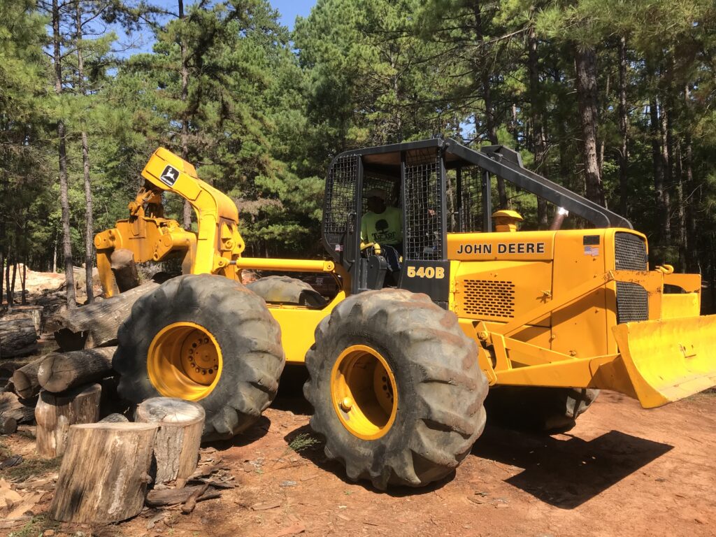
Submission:
<svg viewBox="0 0 716 537">
<path fill-rule="evenodd" d="M 586 441 L 488 426 L 472 453 L 523 468 L 505 482 L 550 505 L 574 509 L 672 448 L 619 431 Z"/>
</svg>

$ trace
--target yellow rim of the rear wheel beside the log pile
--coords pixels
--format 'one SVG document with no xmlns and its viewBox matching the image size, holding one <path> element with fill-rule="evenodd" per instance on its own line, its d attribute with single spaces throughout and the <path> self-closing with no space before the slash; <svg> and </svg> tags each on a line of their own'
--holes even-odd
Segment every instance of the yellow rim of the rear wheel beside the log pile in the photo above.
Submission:
<svg viewBox="0 0 716 537">
<path fill-rule="evenodd" d="M 221 348 L 211 332 L 190 322 L 165 326 L 147 354 L 149 379 L 158 392 L 188 401 L 213 391 L 222 366 Z"/>
</svg>

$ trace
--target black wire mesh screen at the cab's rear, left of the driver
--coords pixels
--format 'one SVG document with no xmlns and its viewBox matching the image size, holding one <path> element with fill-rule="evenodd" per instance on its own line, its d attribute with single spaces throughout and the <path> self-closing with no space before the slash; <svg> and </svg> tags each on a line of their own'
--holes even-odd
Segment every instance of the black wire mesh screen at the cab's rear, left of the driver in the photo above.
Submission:
<svg viewBox="0 0 716 537">
<path fill-rule="evenodd" d="M 348 214 L 354 210 L 355 189 L 358 178 L 359 156 L 338 158 L 332 165 L 326 184 L 326 201 L 323 210 L 323 237 L 336 252 L 342 246 Z"/>
</svg>

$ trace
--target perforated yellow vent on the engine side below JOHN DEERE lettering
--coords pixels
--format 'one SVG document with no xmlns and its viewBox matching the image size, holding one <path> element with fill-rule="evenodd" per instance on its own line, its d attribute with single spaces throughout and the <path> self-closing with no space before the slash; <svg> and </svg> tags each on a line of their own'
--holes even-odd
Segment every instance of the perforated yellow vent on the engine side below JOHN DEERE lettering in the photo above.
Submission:
<svg viewBox="0 0 716 537">
<path fill-rule="evenodd" d="M 458 314 L 478 317 L 514 317 L 515 284 L 511 281 L 465 280 Z"/>
</svg>

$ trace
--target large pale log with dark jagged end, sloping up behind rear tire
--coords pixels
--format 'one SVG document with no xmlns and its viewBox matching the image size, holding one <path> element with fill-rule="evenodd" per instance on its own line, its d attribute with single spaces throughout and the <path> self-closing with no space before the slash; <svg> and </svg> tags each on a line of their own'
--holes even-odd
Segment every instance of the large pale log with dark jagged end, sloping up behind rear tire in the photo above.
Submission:
<svg viewBox="0 0 716 537">
<path fill-rule="evenodd" d="M 132 305 L 158 286 L 150 281 L 110 299 L 63 311 L 57 318 L 62 326 L 55 332 L 57 344 L 64 352 L 117 344 L 117 330 L 129 316 Z"/>
</svg>

